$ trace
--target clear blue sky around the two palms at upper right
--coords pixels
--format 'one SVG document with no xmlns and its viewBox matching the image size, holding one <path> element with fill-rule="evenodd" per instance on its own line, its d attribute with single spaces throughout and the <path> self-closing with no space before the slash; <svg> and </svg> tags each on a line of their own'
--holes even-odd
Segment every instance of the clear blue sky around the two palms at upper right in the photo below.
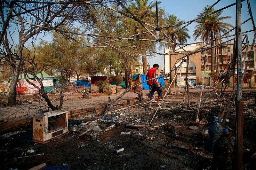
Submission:
<svg viewBox="0 0 256 170">
<path fill-rule="evenodd" d="M 160 7 L 165 9 L 165 12 L 170 15 L 174 14 L 180 20 L 184 21 L 189 21 L 191 19 L 195 19 L 200 12 L 203 11 L 203 8 L 207 5 L 212 5 L 215 3 L 217 0 L 196 0 L 196 1 L 191 1 L 191 0 L 161 0 L 161 4 L 159 5 Z M 220 8 L 223 8 L 229 4 L 235 3 L 235 0 L 221 0 L 218 4 L 215 5 L 215 10 L 218 10 Z M 255 0 L 250 0 L 251 4 L 251 9 L 252 9 L 252 15 L 254 22 L 256 21 L 256 1 Z M 230 19 L 223 20 L 226 23 L 230 23 L 233 26 L 236 25 L 236 5 L 229 7 L 225 10 L 223 10 L 221 16 L 231 16 Z M 242 2 L 242 22 L 246 19 L 248 19 L 250 16 L 248 14 L 248 7 L 247 7 L 247 2 L 246 0 Z M 196 23 L 193 22 L 191 23 L 187 28 L 189 29 L 189 36 L 190 39 L 188 40 L 187 43 L 194 43 L 195 40 L 193 38 L 193 31 L 195 30 Z M 242 25 L 242 32 L 243 31 L 248 31 L 252 30 L 252 22 L 247 21 L 245 24 Z M 235 31 L 231 32 L 230 35 L 235 34 Z M 249 43 L 252 43 L 253 35 L 254 33 L 247 33 L 248 38 L 249 38 Z M 232 37 L 231 37 L 232 39 Z M 199 39 L 198 39 L 199 40 Z M 224 39 L 225 40 L 225 39 Z M 163 53 L 164 49 L 159 50 L 158 52 Z M 160 67 L 164 67 L 164 56 L 163 55 L 158 55 L 156 57 L 148 57 L 148 62 L 150 67 L 153 66 L 153 64 L 157 63 Z"/>
</svg>

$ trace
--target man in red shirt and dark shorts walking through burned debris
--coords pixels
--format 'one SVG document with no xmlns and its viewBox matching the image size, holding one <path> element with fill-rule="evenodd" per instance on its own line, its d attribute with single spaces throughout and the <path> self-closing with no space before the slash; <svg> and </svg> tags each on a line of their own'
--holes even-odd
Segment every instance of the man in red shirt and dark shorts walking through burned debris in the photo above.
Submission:
<svg viewBox="0 0 256 170">
<path fill-rule="evenodd" d="M 152 78 L 156 78 L 156 70 L 159 68 L 158 64 L 154 64 L 153 68 L 148 70 L 148 73 L 146 75 L 146 80 L 152 79 Z M 150 80 L 148 81 L 148 85 L 149 85 L 149 100 L 151 101 L 155 91 L 158 93 L 158 99 L 156 101 L 156 104 L 159 104 L 160 98 L 163 95 L 163 90 L 160 88 L 160 85 L 158 83 L 158 81 L 155 80 Z M 151 108 L 151 104 L 149 103 L 149 108 Z"/>
</svg>

